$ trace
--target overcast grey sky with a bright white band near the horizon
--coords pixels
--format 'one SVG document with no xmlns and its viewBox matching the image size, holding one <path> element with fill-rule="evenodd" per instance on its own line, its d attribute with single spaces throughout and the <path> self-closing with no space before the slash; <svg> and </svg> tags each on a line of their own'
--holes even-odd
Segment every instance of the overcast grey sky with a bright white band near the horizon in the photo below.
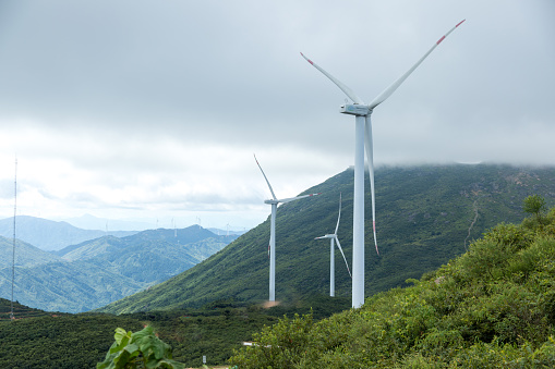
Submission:
<svg viewBox="0 0 555 369">
<path fill-rule="evenodd" d="M 553 0 L 0 2 L 0 217 L 85 213 L 251 227 L 353 164 L 366 101 L 457 28 L 373 113 L 376 164 L 555 165 Z M 376 177 L 376 186 L 379 179 Z"/>
</svg>

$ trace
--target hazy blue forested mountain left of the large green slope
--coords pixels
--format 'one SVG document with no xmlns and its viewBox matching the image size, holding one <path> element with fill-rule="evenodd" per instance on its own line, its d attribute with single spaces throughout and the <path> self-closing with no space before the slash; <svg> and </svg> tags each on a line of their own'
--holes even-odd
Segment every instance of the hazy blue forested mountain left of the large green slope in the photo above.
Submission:
<svg viewBox="0 0 555 369">
<path fill-rule="evenodd" d="M 87 311 L 181 273 L 234 238 L 195 225 L 148 230 L 122 238 L 102 236 L 56 253 L 17 244 L 16 257 L 31 254 L 27 248 L 36 256 L 26 257 L 26 265 L 16 265 L 14 296 L 43 310 Z M 11 243 L 0 239 L 0 255 L 10 256 L 10 262 L 0 265 L 2 297 L 10 297 L 12 250 Z"/>
</svg>

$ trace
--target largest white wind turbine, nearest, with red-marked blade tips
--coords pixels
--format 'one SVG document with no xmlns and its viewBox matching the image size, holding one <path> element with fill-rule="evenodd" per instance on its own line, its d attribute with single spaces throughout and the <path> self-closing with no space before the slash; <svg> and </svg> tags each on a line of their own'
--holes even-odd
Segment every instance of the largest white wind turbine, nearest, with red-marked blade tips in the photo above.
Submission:
<svg viewBox="0 0 555 369">
<path fill-rule="evenodd" d="M 463 21 L 459 22 L 455 27 L 449 29 L 442 38 L 439 38 L 420 60 L 412 65 L 403 75 L 395 81 L 389 87 L 384 89 L 382 94 L 376 96 L 369 104 L 354 94 L 352 89 L 347 87 L 342 82 L 316 65 L 312 60 L 306 58 L 302 52 L 301 56 L 306 59 L 315 69 L 322 72 L 326 77 L 331 79 L 353 103 L 345 103 L 340 108 L 343 114 L 355 116 L 354 126 L 354 195 L 353 195 L 353 236 L 352 236 L 352 307 L 358 308 L 364 304 L 364 147 L 369 161 L 370 189 L 372 196 L 372 227 L 374 231 L 374 245 L 377 250 L 376 241 L 376 222 L 375 222 L 375 195 L 374 195 L 374 163 L 372 152 L 372 123 L 370 115 L 374 108 L 384 102 L 414 72 L 414 70 L 426 59 L 426 57 Z M 379 254 L 379 253 L 378 253 Z"/>
</svg>

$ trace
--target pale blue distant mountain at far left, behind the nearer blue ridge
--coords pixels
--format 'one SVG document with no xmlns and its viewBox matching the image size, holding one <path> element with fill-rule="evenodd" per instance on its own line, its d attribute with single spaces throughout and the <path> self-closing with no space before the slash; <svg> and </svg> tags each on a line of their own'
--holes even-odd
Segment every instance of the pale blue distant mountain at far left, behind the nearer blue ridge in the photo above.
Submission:
<svg viewBox="0 0 555 369">
<path fill-rule="evenodd" d="M 108 234 L 123 237 L 136 231 L 114 231 Z M 65 246 L 79 244 L 106 235 L 105 231 L 82 230 L 67 222 L 27 216 L 15 218 L 15 237 L 43 250 L 59 250 Z M 0 220 L 0 236 L 13 238 L 13 217 Z"/>
</svg>

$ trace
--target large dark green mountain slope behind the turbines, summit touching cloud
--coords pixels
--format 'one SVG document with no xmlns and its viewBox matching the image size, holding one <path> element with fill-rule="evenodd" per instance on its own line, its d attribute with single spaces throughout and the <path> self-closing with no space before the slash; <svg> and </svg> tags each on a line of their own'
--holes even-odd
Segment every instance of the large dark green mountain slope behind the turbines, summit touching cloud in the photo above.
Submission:
<svg viewBox="0 0 555 369">
<path fill-rule="evenodd" d="M 523 218 L 522 200 L 532 194 L 553 205 L 555 169 L 494 164 L 384 167 L 376 170 L 376 229 L 379 256 L 366 222 L 365 292 L 375 294 L 420 278 L 461 255 L 470 242 L 499 222 Z M 327 294 L 328 243 L 314 237 L 331 232 L 339 193 L 342 213 L 339 238 L 352 258 L 351 169 L 309 188 L 322 193 L 280 206 L 276 229 L 276 297 L 302 299 Z M 370 198 L 366 176 L 366 199 Z M 366 201 L 366 220 L 371 205 Z M 100 311 L 122 313 L 144 309 L 195 307 L 234 298 L 262 302 L 268 296 L 269 220 L 266 220 L 203 263 L 112 303 Z M 350 296 L 351 281 L 336 253 L 336 295 Z M 349 261 L 350 263 L 350 261 Z"/>
</svg>

